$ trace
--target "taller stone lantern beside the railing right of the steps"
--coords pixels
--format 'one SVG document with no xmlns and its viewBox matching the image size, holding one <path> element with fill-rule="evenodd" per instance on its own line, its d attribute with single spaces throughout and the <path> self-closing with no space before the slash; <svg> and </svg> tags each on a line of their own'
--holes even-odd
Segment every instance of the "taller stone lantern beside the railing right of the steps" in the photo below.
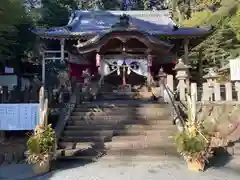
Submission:
<svg viewBox="0 0 240 180">
<path fill-rule="evenodd" d="M 180 100 L 186 100 L 186 92 L 189 89 L 189 66 L 185 65 L 182 59 L 179 59 L 178 63 L 176 64 L 174 70 L 176 71 L 176 78 L 178 80 L 177 89 L 179 91 Z"/>
</svg>

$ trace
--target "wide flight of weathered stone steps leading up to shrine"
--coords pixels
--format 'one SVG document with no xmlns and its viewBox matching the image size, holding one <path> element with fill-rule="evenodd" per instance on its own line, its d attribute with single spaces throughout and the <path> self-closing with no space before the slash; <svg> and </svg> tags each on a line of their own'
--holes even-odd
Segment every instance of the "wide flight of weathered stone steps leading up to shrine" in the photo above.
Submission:
<svg viewBox="0 0 240 180">
<path fill-rule="evenodd" d="M 178 157 L 172 107 L 139 100 L 79 104 L 58 143 L 58 158 Z"/>
</svg>

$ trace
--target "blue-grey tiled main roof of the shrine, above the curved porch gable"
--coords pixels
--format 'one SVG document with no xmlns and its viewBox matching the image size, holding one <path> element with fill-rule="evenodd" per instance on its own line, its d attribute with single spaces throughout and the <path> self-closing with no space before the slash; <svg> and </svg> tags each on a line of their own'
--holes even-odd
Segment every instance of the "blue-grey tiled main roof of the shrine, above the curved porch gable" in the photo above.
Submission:
<svg viewBox="0 0 240 180">
<path fill-rule="evenodd" d="M 201 36 L 209 28 L 178 28 L 167 10 L 162 11 L 75 11 L 65 27 L 49 29 L 36 28 L 34 33 L 42 36 L 78 36 L 105 34 L 112 31 L 112 26 L 119 22 L 120 15 L 129 15 L 130 24 L 138 31 L 156 35 Z"/>
</svg>

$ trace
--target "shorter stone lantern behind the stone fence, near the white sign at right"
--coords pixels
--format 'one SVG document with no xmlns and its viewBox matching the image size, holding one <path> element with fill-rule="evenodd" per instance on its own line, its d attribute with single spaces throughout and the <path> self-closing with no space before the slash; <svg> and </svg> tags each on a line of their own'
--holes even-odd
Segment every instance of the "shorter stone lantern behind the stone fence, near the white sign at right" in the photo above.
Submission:
<svg viewBox="0 0 240 180">
<path fill-rule="evenodd" d="M 221 100 L 221 94 L 220 94 L 220 85 L 217 83 L 217 78 L 219 75 L 214 71 L 213 68 L 210 68 L 208 73 L 203 76 L 204 79 L 206 79 L 209 92 L 207 93 L 209 96 L 209 100 L 213 101 L 213 95 L 215 101 Z M 204 92 L 203 92 L 204 93 Z"/>
</svg>

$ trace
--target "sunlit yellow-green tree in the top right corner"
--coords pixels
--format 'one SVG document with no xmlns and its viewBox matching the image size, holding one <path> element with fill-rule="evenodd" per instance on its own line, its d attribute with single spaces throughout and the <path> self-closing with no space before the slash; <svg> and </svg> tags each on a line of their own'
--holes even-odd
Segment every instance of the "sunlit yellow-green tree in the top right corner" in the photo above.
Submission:
<svg viewBox="0 0 240 180">
<path fill-rule="evenodd" d="M 211 26 L 215 31 L 191 52 L 190 59 L 197 61 L 196 53 L 203 51 L 208 64 L 225 64 L 224 61 L 239 56 L 240 11 L 236 0 L 198 0 L 196 11 L 182 21 L 184 26 Z"/>
</svg>

